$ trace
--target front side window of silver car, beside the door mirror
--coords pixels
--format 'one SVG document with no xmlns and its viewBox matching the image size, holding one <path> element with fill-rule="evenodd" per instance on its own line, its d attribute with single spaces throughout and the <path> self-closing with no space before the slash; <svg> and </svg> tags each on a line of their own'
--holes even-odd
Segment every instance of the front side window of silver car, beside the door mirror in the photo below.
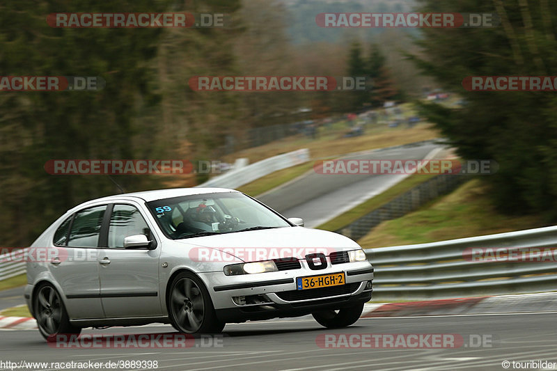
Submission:
<svg viewBox="0 0 557 371">
<path fill-rule="evenodd" d="M 109 248 L 123 248 L 124 238 L 133 235 L 150 237 L 145 219 L 134 206 L 114 205 L 109 225 Z"/>
</svg>

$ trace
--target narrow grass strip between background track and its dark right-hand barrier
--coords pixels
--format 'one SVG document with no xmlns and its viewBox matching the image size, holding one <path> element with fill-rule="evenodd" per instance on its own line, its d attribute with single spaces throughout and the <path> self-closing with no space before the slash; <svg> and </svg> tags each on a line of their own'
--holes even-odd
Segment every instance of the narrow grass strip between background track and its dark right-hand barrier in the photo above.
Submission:
<svg viewBox="0 0 557 371">
<path fill-rule="evenodd" d="M 365 202 L 357 205 L 351 210 L 340 214 L 335 219 L 327 221 L 327 223 L 323 223 L 321 226 L 318 226 L 319 229 L 324 230 L 339 230 L 347 226 L 348 224 L 356 221 L 356 219 L 361 218 L 373 210 L 381 207 L 382 205 L 388 203 L 393 198 L 397 198 L 401 194 L 404 194 L 406 191 L 416 187 L 418 184 L 425 182 L 426 180 L 430 180 L 434 177 L 434 174 L 415 174 L 406 177 L 404 180 L 400 181 L 398 184 L 395 184 L 393 187 L 387 189 L 382 194 L 378 194 L 375 197 L 366 200 Z"/>
</svg>

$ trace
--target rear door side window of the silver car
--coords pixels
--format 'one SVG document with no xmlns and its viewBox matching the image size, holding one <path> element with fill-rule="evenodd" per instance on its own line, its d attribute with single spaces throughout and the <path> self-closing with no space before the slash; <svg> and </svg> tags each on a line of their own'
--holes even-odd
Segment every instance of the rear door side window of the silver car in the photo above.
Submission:
<svg viewBox="0 0 557 371">
<path fill-rule="evenodd" d="M 97 247 L 104 210 L 107 210 L 106 205 L 95 206 L 77 212 L 72 224 L 72 230 L 70 230 L 68 246 Z"/>
</svg>

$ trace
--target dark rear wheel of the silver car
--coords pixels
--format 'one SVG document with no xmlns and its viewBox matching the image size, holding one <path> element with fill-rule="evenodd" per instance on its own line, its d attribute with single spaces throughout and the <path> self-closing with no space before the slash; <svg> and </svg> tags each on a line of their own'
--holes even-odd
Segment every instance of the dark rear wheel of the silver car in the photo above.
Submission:
<svg viewBox="0 0 557 371">
<path fill-rule="evenodd" d="M 62 298 L 56 288 L 45 283 L 37 288 L 33 296 L 33 313 L 40 334 L 47 341 L 56 341 L 57 335 L 76 335 L 81 328 L 72 326 Z"/>
</svg>

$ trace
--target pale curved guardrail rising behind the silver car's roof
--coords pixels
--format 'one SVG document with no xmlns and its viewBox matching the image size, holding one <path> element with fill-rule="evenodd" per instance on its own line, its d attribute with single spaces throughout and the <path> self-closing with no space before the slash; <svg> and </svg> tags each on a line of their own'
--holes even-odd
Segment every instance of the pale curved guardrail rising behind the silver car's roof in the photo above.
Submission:
<svg viewBox="0 0 557 371">
<path fill-rule="evenodd" d="M 237 188 L 275 171 L 303 164 L 307 161 L 309 161 L 309 150 L 307 148 L 295 150 L 283 155 L 269 157 L 242 168 L 235 168 L 196 187 Z"/>
</svg>

